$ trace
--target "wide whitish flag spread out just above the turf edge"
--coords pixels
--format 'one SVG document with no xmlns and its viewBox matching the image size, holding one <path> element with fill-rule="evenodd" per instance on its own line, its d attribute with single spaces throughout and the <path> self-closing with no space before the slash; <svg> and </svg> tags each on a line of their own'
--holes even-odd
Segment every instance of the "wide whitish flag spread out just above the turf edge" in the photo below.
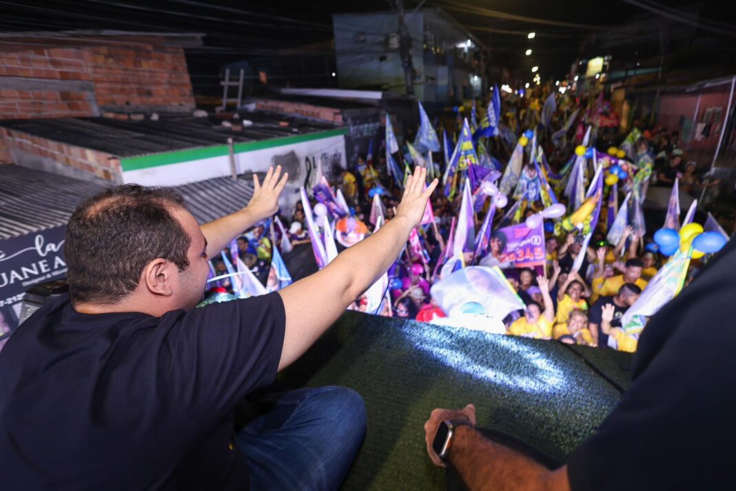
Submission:
<svg viewBox="0 0 736 491">
<path fill-rule="evenodd" d="M 470 302 L 483 305 L 486 314 L 496 319 L 526 309 L 498 266 L 468 266 L 460 269 L 435 283 L 430 292 L 432 300 L 448 314 Z"/>
</svg>

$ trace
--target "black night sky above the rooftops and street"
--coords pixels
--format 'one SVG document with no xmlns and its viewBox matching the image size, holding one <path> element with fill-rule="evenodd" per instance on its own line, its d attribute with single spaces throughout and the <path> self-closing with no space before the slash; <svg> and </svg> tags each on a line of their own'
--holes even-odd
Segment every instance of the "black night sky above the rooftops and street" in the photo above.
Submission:
<svg viewBox="0 0 736 491">
<path fill-rule="evenodd" d="M 205 46 L 188 49 L 196 93 L 216 93 L 219 67 L 277 49 L 332 37 L 331 13 L 388 10 L 385 0 L 359 4 L 344 0 L 251 2 L 234 0 L 0 0 L 0 30 L 123 29 L 147 32 L 202 32 Z M 645 3 L 654 4 L 646 0 Z M 668 7 L 693 4 L 668 1 Z M 707 2 L 701 15 L 723 22 L 729 2 Z M 419 0 L 406 0 L 413 10 Z M 562 77 L 595 32 L 645 15 L 621 0 L 426 0 L 442 7 L 489 46 L 493 66 L 524 71 L 537 65 L 547 77 Z M 477 10 L 478 8 L 485 10 Z M 492 9 L 495 12 L 488 12 Z M 500 13 L 500 14 L 499 14 Z M 508 15 L 521 18 L 504 18 Z M 557 25 L 564 23 L 570 25 Z M 733 25 L 733 24 L 732 24 Z M 528 40 L 534 31 L 537 38 Z M 731 43 L 735 39 L 730 38 Z M 533 50 L 531 57 L 524 51 Z"/>
</svg>

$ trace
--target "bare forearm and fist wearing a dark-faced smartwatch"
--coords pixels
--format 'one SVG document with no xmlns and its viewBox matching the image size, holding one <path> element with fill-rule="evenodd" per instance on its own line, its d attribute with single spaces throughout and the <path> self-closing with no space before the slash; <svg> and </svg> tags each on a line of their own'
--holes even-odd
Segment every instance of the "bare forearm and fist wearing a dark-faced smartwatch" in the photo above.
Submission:
<svg viewBox="0 0 736 491">
<path fill-rule="evenodd" d="M 424 425 L 427 451 L 450 465 L 474 490 L 569 490 L 567 467 L 549 470 L 529 457 L 486 439 L 475 429 L 475 406 L 435 409 Z"/>
</svg>

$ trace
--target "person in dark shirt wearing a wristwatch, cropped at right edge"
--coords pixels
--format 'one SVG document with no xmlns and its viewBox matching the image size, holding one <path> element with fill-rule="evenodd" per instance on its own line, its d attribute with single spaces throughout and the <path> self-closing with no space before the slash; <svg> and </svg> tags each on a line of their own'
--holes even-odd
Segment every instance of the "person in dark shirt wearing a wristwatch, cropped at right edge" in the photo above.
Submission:
<svg viewBox="0 0 736 491">
<path fill-rule="evenodd" d="M 475 428 L 475 407 L 435 409 L 429 456 L 470 490 L 730 490 L 736 433 L 736 241 L 652 317 L 634 355 L 632 382 L 598 431 L 559 467 Z M 438 428 L 455 428 L 445 460 Z M 444 436 L 444 433 L 440 434 Z M 445 440 L 447 443 L 447 440 Z M 512 449 L 515 447 L 516 449 Z"/>
</svg>

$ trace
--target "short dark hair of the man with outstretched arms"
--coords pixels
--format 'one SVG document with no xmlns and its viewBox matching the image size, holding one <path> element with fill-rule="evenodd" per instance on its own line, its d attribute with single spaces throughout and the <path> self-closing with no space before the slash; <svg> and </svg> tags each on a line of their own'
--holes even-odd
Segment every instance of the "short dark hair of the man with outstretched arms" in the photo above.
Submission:
<svg viewBox="0 0 736 491">
<path fill-rule="evenodd" d="M 171 215 L 185 208 L 171 188 L 125 184 L 85 199 L 66 227 L 64 257 L 72 304 L 115 303 L 138 287 L 146 264 L 189 266 L 191 239 Z"/>
</svg>

